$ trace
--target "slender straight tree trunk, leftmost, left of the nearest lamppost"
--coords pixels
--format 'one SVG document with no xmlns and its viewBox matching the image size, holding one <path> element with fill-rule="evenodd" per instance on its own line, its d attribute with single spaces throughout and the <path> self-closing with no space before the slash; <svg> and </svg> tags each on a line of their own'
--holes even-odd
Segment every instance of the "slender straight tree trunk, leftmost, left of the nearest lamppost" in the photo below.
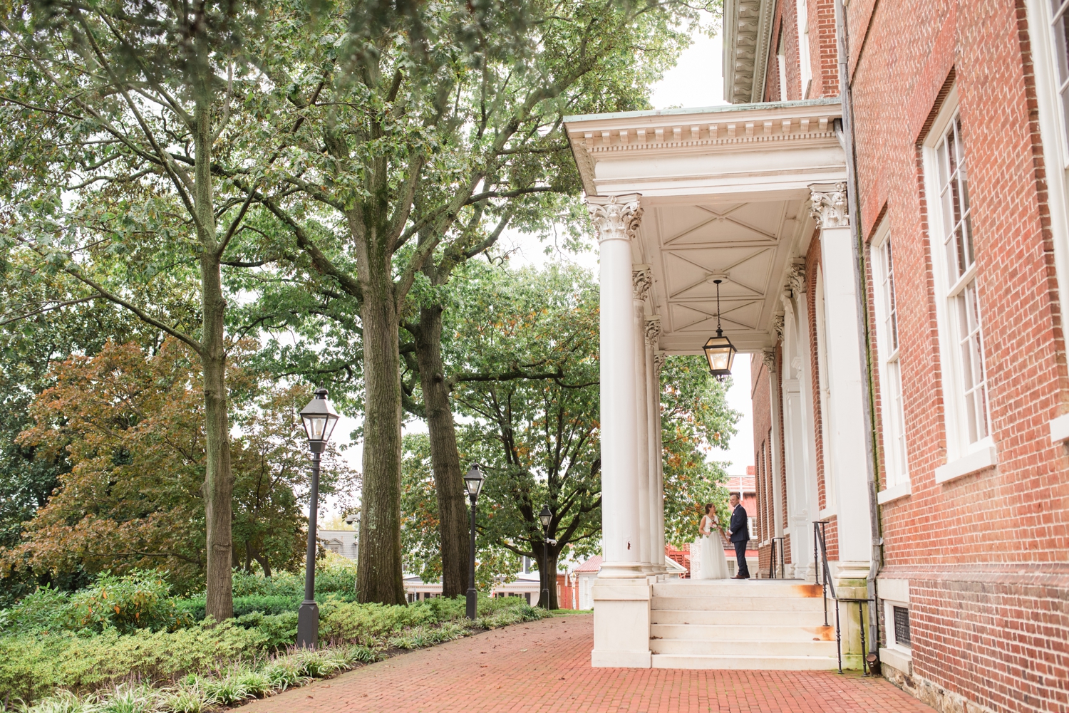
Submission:
<svg viewBox="0 0 1069 713">
<path fill-rule="evenodd" d="M 201 45 L 206 43 L 201 40 Z M 200 48 L 206 57 L 206 46 Z M 204 520 L 207 525 L 207 602 L 205 614 L 216 621 L 234 616 L 231 582 L 231 497 L 234 480 L 230 470 L 230 422 L 227 415 L 227 351 L 215 210 L 212 197 L 212 103 L 210 78 L 196 88 L 196 162 L 193 207 L 197 237 L 201 245 L 201 363 L 204 370 Z"/>
</svg>

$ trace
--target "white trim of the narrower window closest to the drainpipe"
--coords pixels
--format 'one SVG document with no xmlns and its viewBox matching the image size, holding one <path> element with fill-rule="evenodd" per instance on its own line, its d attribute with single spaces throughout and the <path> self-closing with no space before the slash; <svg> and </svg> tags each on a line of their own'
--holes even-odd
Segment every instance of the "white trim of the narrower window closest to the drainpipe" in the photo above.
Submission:
<svg viewBox="0 0 1069 713">
<path fill-rule="evenodd" d="M 887 391 L 886 388 L 885 388 L 886 386 L 889 385 L 888 382 L 885 379 L 885 376 L 888 374 L 887 365 L 889 365 L 893 361 L 898 361 L 899 388 L 900 389 L 902 388 L 902 385 L 901 385 L 901 373 L 902 373 L 902 371 L 901 371 L 902 370 L 901 363 L 902 362 L 901 362 L 901 359 L 900 359 L 901 344 L 899 344 L 898 348 L 896 348 L 894 351 L 890 350 L 892 338 L 890 338 L 890 335 L 886 334 L 886 327 L 885 327 L 885 325 L 886 325 L 886 316 L 887 316 L 888 312 L 890 311 L 890 306 L 884 304 L 884 301 L 885 301 L 885 295 L 884 295 L 884 291 L 883 291 L 883 280 L 886 279 L 886 275 L 884 274 L 885 265 L 884 265 L 882 252 L 883 252 L 883 246 L 886 244 L 886 242 L 887 242 L 887 239 L 889 237 L 890 237 L 890 224 L 889 224 L 889 221 L 886 218 L 884 218 L 880 222 L 879 228 L 877 228 L 876 235 L 872 238 L 871 247 L 869 248 L 869 264 L 872 265 L 872 267 L 873 267 L 873 273 L 872 273 L 872 282 L 873 282 L 872 286 L 873 286 L 873 290 L 872 290 L 872 293 L 873 293 L 874 306 L 876 306 L 876 312 L 877 312 L 877 326 L 876 326 L 877 340 L 876 341 L 877 341 L 877 354 L 879 356 L 878 363 L 877 363 L 877 373 L 880 376 L 880 385 L 881 385 L 881 391 L 882 391 L 881 399 L 880 399 L 880 410 L 881 410 L 881 417 L 882 417 L 881 418 L 881 425 L 882 425 L 881 430 L 883 431 L 883 433 L 882 433 L 882 436 L 883 436 L 883 463 L 884 463 L 884 472 L 887 474 L 888 476 L 890 476 L 890 475 L 894 476 L 893 478 L 886 478 L 885 479 L 885 481 L 887 483 L 887 487 L 885 487 L 883 491 L 881 491 L 880 493 L 877 494 L 877 501 L 880 505 L 883 505 L 884 502 L 890 502 L 892 500 L 897 500 L 897 499 L 899 499 L 901 497 L 905 497 L 907 495 L 910 495 L 912 493 L 912 490 L 910 487 L 910 453 L 909 453 L 909 441 L 908 441 L 908 439 L 905 437 L 905 433 L 904 433 L 905 396 L 904 396 L 904 393 L 902 394 L 901 408 L 902 408 L 903 413 L 901 415 L 899 415 L 899 414 L 897 414 L 897 413 L 894 412 L 895 407 L 890 403 L 893 401 L 893 399 L 892 399 L 893 394 L 890 394 L 889 391 Z M 901 332 L 901 328 L 899 328 L 898 334 L 899 335 L 902 334 Z M 897 445 L 894 443 L 894 440 L 896 439 L 896 436 L 898 435 L 897 431 L 898 431 L 899 425 L 896 422 L 896 419 L 899 418 L 899 416 L 901 416 L 901 421 L 903 423 L 903 425 L 902 425 L 903 433 L 901 434 L 901 437 L 902 437 L 903 444 L 905 444 L 905 449 L 904 449 L 905 453 L 903 455 L 904 462 L 901 463 L 901 464 L 897 463 L 897 461 L 898 461 L 898 456 L 897 455 L 892 455 L 890 454 L 890 449 L 892 448 L 897 448 Z M 889 462 L 894 462 L 896 465 L 901 465 L 901 471 L 896 470 L 894 474 L 892 474 L 892 471 L 890 471 L 892 469 L 887 466 L 887 464 Z"/>
</svg>

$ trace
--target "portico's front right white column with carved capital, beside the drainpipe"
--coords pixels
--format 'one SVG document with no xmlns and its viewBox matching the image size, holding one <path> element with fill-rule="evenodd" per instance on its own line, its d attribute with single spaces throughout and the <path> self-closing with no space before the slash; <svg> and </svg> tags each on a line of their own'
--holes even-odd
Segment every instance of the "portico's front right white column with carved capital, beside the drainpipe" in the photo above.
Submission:
<svg viewBox="0 0 1069 713">
<path fill-rule="evenodd" d="M 821 228 L 820 254 L 824 278 L 824 329 L 832 439 L 825 459 L 836 474 L 836 521 L 839 565 L 837 578 L 864 579 L 869 568 L 870 530 L 865 449 L 861 320 L 854 281 L 854 250 L 847 215 L 846 184 L 811 186 L 812 216 Z"/>
</svg>

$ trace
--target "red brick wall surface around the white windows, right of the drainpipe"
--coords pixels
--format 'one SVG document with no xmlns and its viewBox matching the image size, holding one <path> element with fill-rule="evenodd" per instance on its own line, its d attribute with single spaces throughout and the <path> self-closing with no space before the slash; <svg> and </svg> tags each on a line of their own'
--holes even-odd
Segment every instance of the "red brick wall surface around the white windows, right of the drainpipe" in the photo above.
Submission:
<svg viewBox="0 0 1069 713">
<path fill-rule="evenodd" d="M 859 221 L 870 238 L 885 215 L 895 246 L 912 484 L 909 497 L 881 508 L 882 576 L 910 580 L 915 677 L 996 711 L 1064 711 L 1069 455 L 1051 444 L 1048 421 L 1064 409 L 1069 383 L 1023 3 L 859 0 L 848 18 Z M 919 143 L 951 76 L 998 464 L 940 484 L 942 297 Z"/>
</svg>

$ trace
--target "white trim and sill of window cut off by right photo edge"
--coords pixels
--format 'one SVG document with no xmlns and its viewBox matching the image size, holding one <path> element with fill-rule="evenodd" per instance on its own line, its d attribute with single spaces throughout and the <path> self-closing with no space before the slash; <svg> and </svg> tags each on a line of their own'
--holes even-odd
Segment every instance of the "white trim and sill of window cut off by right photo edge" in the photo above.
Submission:
<svg viewBox="0 0 1069 713">
<path fill-rule="evenodd" d="M 1047 202 L 1051 215 L 1051 236 L 1054 243 L 1054 269 L 1057 274 L 1058 292 L 1069 295 L 1069 140 L 1066 139 L 1066 122 L 1058 97 L 1056 55 L 1054 38 L 1051 36 L 1050 0 L 1025 0 L 1028 19 L 1028 38 L 1033 51 L 1033 69 L 1036 77 L 1036 100 L 1039 109 L 1039 135 L 1043 140 L 1045 155 L 1060 157 L 1063 170 L 1057 170 L 1056 161 L 1050 161 L 1047 171 L 1048 190 L 1051 200 Z M 1058 200 L 1060 197 L 1060 200 Z M 1052 446 L 1060 447 L 1069 440 L 1069 414 L 1054 416 L 1049 421 Z"/>
</svg>

